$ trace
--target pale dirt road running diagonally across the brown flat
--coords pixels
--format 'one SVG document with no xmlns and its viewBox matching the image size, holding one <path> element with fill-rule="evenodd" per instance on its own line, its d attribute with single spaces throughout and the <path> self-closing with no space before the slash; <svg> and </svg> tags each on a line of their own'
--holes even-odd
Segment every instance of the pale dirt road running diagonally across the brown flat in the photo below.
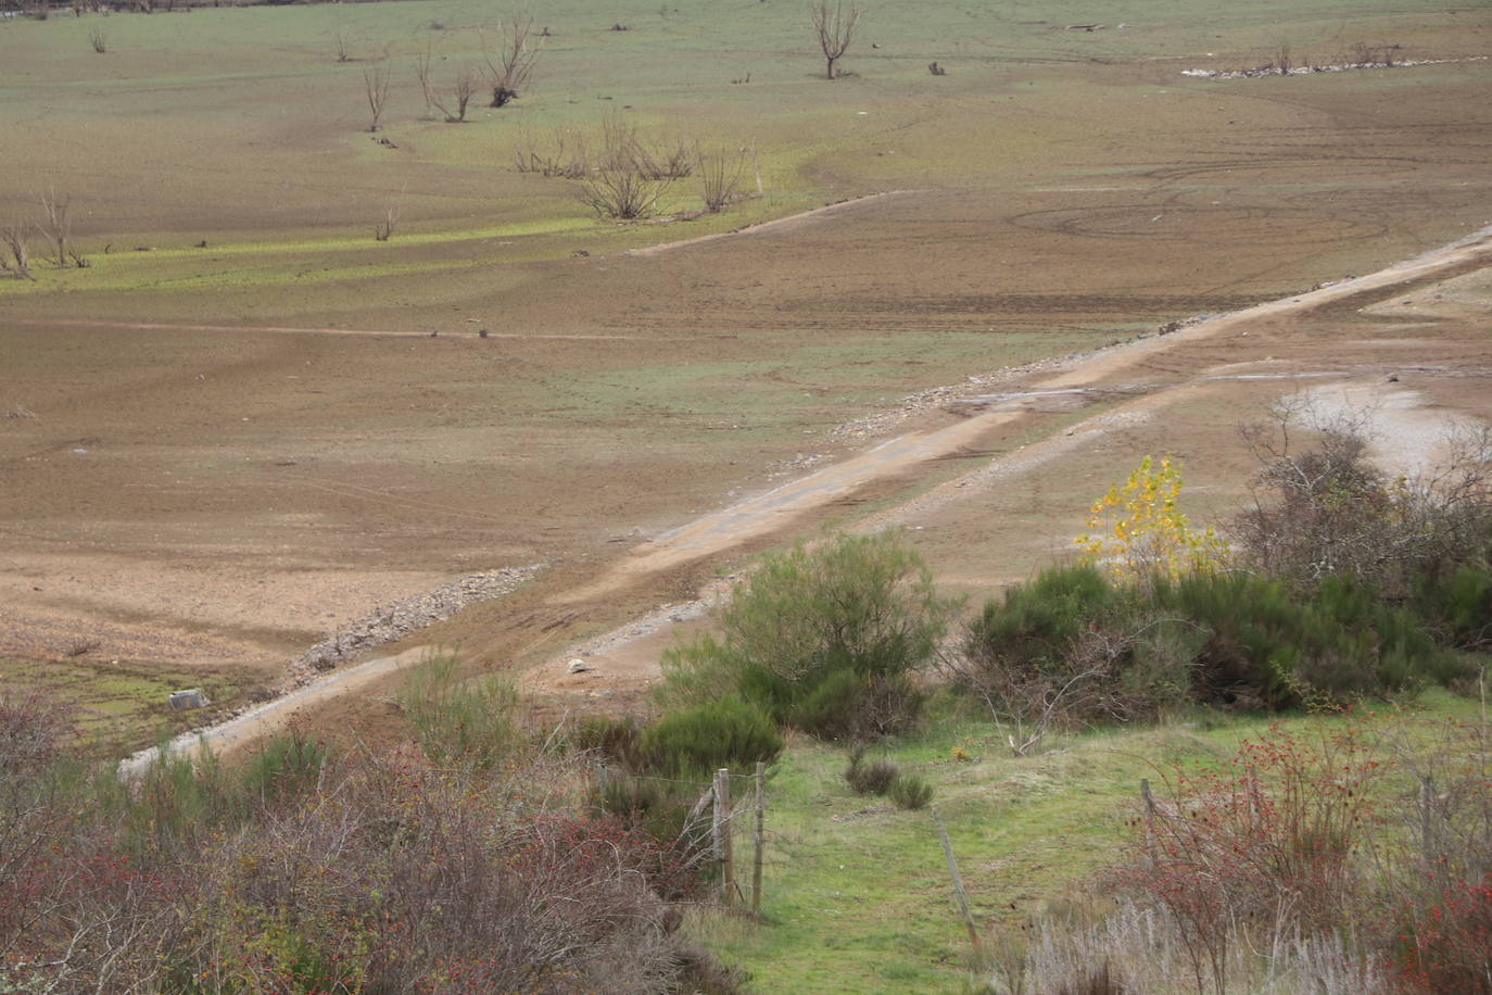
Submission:
<svg viewBox="0 0 1492 995">
<path fill-rule="evenodd" d="M 604 603 L 682 564 L 718 558 L 767 537 L 789 536 L 846 495 L 891 479 L 915 480 L 934 471 L 940 461 L 949 456 L 977 452 L 982 440 L 992 433 L 1007 430 L 1055 400 L 1107 403 L 1100 413 L 1083 418 L 1058 434 L 1022 446 L 1009 455 L 980 461 L 974 470 L 946 480 L 918 498 L 873 515 L 865 521 L 865 527 L 904 524 L 916 515 L 937 512 L 958 500 L 961 489 L 974 482 L 988 483 L 1001 476 L 1026 473 L 1037 465 L 1071 455 L 1082 446 L 1092 446 L 1101 436 L 1152 419 L 1156 412 L 1194 403 L 1223 385 L 1295 389 L 1301 382 L 1320 377 L 1341 379 L 1340 373 L 1313 371 L 1300 365 L 1288 371 L 1258 371 L 1255 364 L 1238 362 L 1240 358 L 1249 357 L 1240 354 L 1237 348 L 1226 357 L 1217 355 L 1216 358 L 1225 360 L 1222 362 L 1183 368 L 1180 374 L 1173 370 L 1158 376 L 1156 368 L 1165 367 L 1161 360 L 1168 354 L 1182 357 L 1201 349 L 1206 355 L 1206 351 L 1219 340 L 1243 342 L 1252 334 L 1268 340 L 1270 330 L 1277 331 L 1282 322 L 1344 307 L 1358 309 L 1407 288 L 1449 276 L 1477 273 L 1486 267 L 1492 267 L 1492 230 L 1479 231 L 1473 237 L 1370 276 L 1259 304 L 1171 334 L 1152 336 L 1070 358 L 1055 373 L 1035 377 L 1018 391 L 988 395 L 965 391 L 956 401 L 961 410 L 974 412 L 967 418 L 940 428 L 891 439 L 859 455 L 658 536 L 637 546 L 589 582 L 552 592 L 546 609 L 557 618 L 573 619 L 573 613 L 567 615 L 568 609 Z M 1276 361 L 1273 355 L 1255 360 L 1262 360 L 1265 364 Z M 1355 389 L 1364 398 L 1373 392 L 1373 388 L 1361 385 Z M 1392 392 L 1398 409 L 1413 406 L 1413 401 L 1407 400 L 1413 397 L 1411 392 L 1402 389 Z M 1392 430 L 1397 422 L 1389 419 L 1383 424 Z M 1423 431 L 1423 424 L 1419 424 L 1417 431 Z M 661 649 L 680 631 L 697 627 L 706 606 L 724 589 L 725 583 L 716 582 L 709 585 L 698 600 L 664 606 L 619 630 L 570 646 L 564 653 L 531 668 L 524 676 L 524 683 L 531 691 L 558 695 L 594 697 L 636 691 L 656 677 Z M 395 656 L 349 667 L 292 695 L 260 706 L 230 724 L 207 729 L 207 741 L 219 750 L 249 743 L 267 731 L 282 728 L 292 715 L 327 707 L 337 700 L 355 698 L 358 692 L 391 676 L 422 652 L 425 650 L 419 647 L 409 649 Z M 585 658 L 594 668 L 568 673 L 567 664 L 573 656 Z M 181 746 L 189 749 L 192 743 L 194 737 L 184 737 Z M 136 767 L 142 762 L 149 762 L 148 753 L 131 759 Z"/>
</svg>

